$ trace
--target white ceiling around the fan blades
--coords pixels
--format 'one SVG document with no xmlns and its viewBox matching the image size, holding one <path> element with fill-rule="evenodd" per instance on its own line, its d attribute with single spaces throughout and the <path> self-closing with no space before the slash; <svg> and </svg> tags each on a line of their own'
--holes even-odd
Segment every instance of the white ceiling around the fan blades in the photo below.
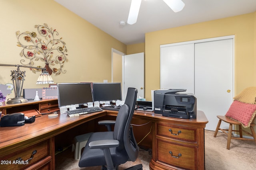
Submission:
<svg viewBox="0 0 256 170">
<path fill-rule="evenodd" d="M 174 13 L 163 0 L 142 0 L 135 24 L 127 21 L 131 0 L 55 0 L 122 43 L 145 42 L 145 33 L 256 11 L 256 0 L 182 0 Z"/>
</svg>

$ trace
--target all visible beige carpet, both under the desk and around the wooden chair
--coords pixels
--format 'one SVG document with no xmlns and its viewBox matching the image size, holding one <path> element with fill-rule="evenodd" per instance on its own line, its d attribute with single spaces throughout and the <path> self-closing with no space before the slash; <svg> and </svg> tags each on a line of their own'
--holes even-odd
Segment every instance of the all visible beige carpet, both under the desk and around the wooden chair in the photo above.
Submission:
<svg viewBox="0 0 256 170">
<path fill-rule="evenodd" d="M 205 169 L 206 170 L 255 170 L 256 143 L 253 141 L 231 140 L 230 150 L 226 149 L 227 136 L 213 131 L 205 131 Z M 136 162 L 127 162 L 119 166 L 120 170 L 135 164 L 143 164 L 143 170 L 149 170 L 151 155 L 140 150 Z M 56 170 L 100 170 L 100 166 L 79 168 L 74 160 L 74 152 L 68 149 L 56 155 Z"/>
</svg>

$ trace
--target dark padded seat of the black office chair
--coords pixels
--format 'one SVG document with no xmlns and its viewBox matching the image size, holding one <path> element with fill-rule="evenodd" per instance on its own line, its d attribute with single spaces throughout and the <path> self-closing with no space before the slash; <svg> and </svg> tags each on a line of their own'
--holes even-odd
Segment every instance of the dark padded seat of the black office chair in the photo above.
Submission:
<svg viewBox="0 0 256 170">
<path fill-rule="evenodd" d="M 82 152 L 78 166 L 88 167 L 88 166 L 106 165 L 103 150 L 90 149 L 89 143 L 91 141 L 113 140 L 113 139 L 114 139 L 113 131 L 92 133 L 92 135 L 90 136 L 90 138 L 88 139 L 84 147 L 84 151 Z M 122 154 L 122 152 L 126 152 L 126 150 L 123 149 L 118 151 L 116 150 L 116 148 L 110 148 L 110 154 L 114 164 L 116 165 L 123 164 L 129 159 L 128 156 L 124 156 L 127 154 Z"/>
</svg>

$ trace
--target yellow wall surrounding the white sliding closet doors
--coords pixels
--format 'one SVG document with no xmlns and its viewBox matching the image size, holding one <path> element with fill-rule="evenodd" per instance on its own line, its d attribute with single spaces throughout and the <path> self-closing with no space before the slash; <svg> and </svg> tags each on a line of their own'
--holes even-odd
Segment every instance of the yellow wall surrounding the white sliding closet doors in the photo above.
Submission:
<svg viewBox="0 0 256 170">
<path fill-rule="evenodd" d="M 160 88 L 160 45 L 227 35 L 235 35 L 235 94 L 255 86 L 255 18 L 256 13 L 250 13 L 146 33 L 146 98 L 151 98 L 151 90 Z"/>
</svg>

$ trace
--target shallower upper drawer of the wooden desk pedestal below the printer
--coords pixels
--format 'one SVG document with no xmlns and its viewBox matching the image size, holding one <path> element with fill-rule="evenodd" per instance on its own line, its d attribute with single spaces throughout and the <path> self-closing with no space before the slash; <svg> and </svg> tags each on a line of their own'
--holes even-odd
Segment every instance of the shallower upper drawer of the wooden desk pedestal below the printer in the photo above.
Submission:
<svg viewBox="0 0 256 170">
<path fill-rule="evenodd" d="M 163 123 L 156 123 L 156 135 L 184 141 L 196 141 L 196 129 L 188 129 Z"/>
</svg>

